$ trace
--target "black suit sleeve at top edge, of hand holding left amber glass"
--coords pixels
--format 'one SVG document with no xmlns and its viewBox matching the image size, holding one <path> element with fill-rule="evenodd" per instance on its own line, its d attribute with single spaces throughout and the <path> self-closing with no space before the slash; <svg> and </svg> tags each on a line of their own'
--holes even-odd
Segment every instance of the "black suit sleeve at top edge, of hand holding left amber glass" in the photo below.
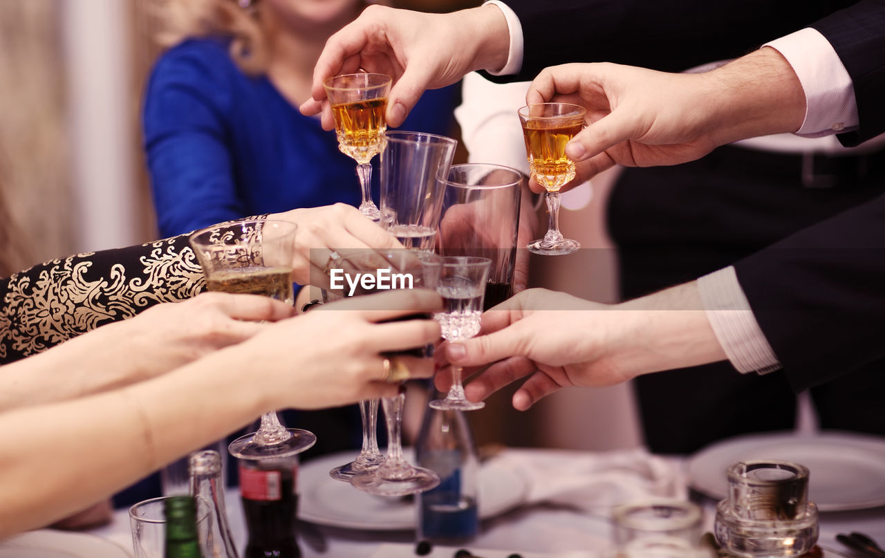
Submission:
<svg viewBox="0 0 885 558">
<path fill-rule="evenodd" d="M 854 0 L 855 2 L 857 0 Z M 847 5 L 850 0 L 507 0 L 525 42 L 518 75 L 569 62 L 616 62 L 681 72 L 737 58 Z"/>
</svg>

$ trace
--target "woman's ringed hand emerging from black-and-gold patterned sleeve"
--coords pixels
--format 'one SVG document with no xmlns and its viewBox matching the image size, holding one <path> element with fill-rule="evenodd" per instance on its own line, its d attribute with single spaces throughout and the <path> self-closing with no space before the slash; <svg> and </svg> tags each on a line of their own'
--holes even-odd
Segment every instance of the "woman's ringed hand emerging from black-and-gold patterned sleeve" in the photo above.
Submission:
<svg viewBox="0 0 885 558">
<path fill-rule="evenodd" d="M 386 230 L 346 204 L 293 209 L 268 215 L 268 219 L 294 222 L 296 255 L 294 280 L 300 284 L 327 286 L 327 269 L 335 253 L 401 249 L 403 244 Z M 335 253 L 333 253 L 335 252 Z"/>
</svg>

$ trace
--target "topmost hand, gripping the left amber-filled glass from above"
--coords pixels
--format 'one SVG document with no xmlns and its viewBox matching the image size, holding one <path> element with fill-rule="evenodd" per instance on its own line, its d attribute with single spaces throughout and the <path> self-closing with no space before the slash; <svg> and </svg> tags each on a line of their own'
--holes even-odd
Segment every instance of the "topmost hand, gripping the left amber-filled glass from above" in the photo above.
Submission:
<svg viewBox="0 0 885 558">
<path fill-rule="evenodd" d="M 323 82 L 362 68 L 393 78 L 387 123 L 396 128 L 425 89 L 445 87 L 473 70 L 503 67 L 509 46 L 507 22 L 495 6 L 432 14 L 370 5 L 329 37 L 313 71 L 313 98 L 301 112 L 322 112 L 323 128 L 334 128 Z"/>
</svg>

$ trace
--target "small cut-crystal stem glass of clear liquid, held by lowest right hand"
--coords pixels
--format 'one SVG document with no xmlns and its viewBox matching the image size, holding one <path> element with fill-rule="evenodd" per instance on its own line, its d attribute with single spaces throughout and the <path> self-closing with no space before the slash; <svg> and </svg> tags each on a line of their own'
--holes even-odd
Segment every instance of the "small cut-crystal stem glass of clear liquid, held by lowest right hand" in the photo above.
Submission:
<svg viewBox="0 0 885 558">
<path fill-rule="evenodd" d="M 469 339 L 480 332 L 482 298 L 489 282 L 492 260 L 475 256 L 447 256 L 443 258 L 443 272 L 436 292 L 443 297 L 445 310 L 434 314 L 443 329 L 446 341 Z M 451 367 L 451 387 L 445 399 L 434 399 L 430 407 L 475 411 L 485 407 L 482 401 L 474 403 L 464 397 L 461 384 L 462 368 Z"/>
</svg>

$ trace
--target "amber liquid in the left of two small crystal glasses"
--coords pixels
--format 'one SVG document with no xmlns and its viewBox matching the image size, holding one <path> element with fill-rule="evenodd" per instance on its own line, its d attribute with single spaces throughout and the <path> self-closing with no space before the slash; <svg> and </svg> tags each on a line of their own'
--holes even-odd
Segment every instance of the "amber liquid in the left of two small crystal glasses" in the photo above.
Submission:
<svg viewBox="0 0 885 558">
<path fill-rule="evenodd" d="M 384 148 L 387 97 L 332 105 L 338 149 L 358 163 L 368 163 Z"/>
</svg>

